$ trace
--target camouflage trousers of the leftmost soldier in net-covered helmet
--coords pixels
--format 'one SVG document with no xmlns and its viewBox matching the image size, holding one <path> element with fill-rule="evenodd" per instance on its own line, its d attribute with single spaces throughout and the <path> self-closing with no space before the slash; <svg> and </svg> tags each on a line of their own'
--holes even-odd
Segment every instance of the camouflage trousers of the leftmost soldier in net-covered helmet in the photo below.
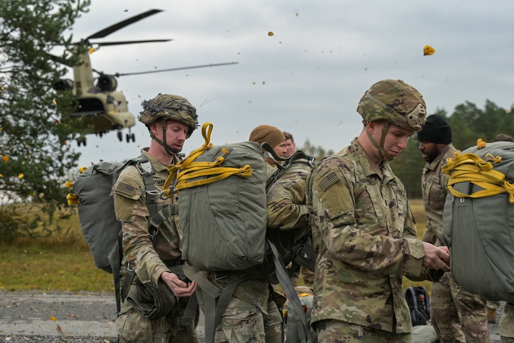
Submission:
<svg viewBox="0 0 514 343">
<path fill-rule="evenodd" d="M 189 298 L 179 298 L 179 308 L 167 316 L 150 320 L 134 309 L 121 313 L 116 329 L 121 343 L 194 343 L 198 342 L 195 326 L 182 326 L 182 315 Z M 198 317 L 198 316 L 197 316 Z"/>
</svg>

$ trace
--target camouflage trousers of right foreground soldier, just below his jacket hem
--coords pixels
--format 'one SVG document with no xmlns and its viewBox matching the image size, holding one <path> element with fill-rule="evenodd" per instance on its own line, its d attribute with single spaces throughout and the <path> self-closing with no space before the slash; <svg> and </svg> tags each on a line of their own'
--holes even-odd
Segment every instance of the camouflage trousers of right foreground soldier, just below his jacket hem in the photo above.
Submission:
<svg viewBox="0 0 514 343">
<path fill-rule="evenodd" d="M 314 326 L 319 342 L 412 343 L 411 333 L 392 333 L 335 319 L 320 320 Z"/>
</svg>

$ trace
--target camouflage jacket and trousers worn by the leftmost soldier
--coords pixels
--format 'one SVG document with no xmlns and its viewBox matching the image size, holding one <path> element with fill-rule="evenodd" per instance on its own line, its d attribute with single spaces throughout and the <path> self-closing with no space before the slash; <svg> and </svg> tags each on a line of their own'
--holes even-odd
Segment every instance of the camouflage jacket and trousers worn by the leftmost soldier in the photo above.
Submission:
<svg viewBox="0 0 514 343">
<path fill-rule="evenodd" d="M 169 175 L 166 166 L 159 163 L 152 155 L 141 150 L 141 154 L 148 157 L 155 170 L 153 175 L 156 189 L 160 189 Z M 178 162 L 178 159 L 176 160 Z M 130 291 L 135 288 L 135 282 L 139 279 L 142 283 L 152 282 L 157 284 L 163 272 L 170 272 L 166 262 L 181 258 L 180 238 L 181 229 L 178 214 L 164 221 L 159 226 L 159 238 L 154 248 L 148 229 L 148 209 L 146 208 L 146 194 L 143 179 L 135 166 L 127 167 L 120 174 L 116 185 L 113 188 L 114 204 L 117 219 L 122 222 L 123 232 L 123 266 L 121 270 L 120 287 L 123 288 L 123 277 L 127 272 L 127 262 L 136 272 L 137 277 L 130 286 Z M 178 198 L 161 200 L 159 205 L 168 203 L 177 204 Z M 129 291 L 129 292 L 130 292 Z M 184 300 L 181 300 L 184 301 Z M 125 315 L 124 315 L 125 314 Z M 162 317 L 164 318 L 164 317 Z M 175 332 L 175 336 L 182 336 L 179 340 L 184 343 L 197 341 L 196 332 L 193 326 L 180 328 L 180 312 L 173 312 L 164 319 L 149 320 L 133 310 L 128 301 L 121 303 L 121 311 L 116 320 L 116 327 L 120 335 L 132 336 L 130 330 L 134 329 L 134 337 L 141 334 L 141 340 L 131 338 L 131 342 L 161 341 L 168 332 Z M 177 326 L 177 323 L 180 323 Z M 140 333 L 148 328 L 154 330 L 152 333 Z M 127 332 L 128 330 L 128 332 Z M 155 340 L 146 340 L 148 335 L 153 335 Z M 185 335 L 185 336 L 184 336 Z"/>
</svg>

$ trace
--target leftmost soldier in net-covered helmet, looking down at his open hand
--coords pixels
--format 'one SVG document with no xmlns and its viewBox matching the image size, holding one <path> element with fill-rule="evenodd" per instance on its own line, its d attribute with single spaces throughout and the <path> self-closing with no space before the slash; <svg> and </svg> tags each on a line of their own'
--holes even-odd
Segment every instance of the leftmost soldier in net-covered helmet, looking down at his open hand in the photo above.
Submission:
<svg viewBox="0 0 514 343">
<path fill-rule="evenodd" d="M 152 163 L 152 176 L 156 189 L 160 190 L 169 171 L 167 166 L 178 162 L 177 154 L 184 141 L 197 127 L 196 109 L 191 103 L 176 95 L 159 94 L 156 98 L 141 103 L 143 112 L 139 121 L 146 125 L 152 137 L 149 148 L 141 150 Z M 125 168 L 120 174 L 114 191 L 116 216 L 122 222 L 123 266 L 121 288 L 127 294 L 137 292 L 136 282 L 156 286 L 165 283 L 177 298 L 178 305 L 170 308 L 166 316 L 149 319 L 124 299 L 118 313 L 116 328 L 121 342 L 197 342 L 195 327 L 182 326 L 182 313 L 189 296 L 196 288 L 195 282 L 186 283 L 170 268 L 180 265 L 182 252 L 181 229 L 178 214 L 166 219 L 158 227 L 158 240 L 152 244 L 149 232 L 149 211 L 146 208 L 146 193 L 143 179 L 135 166 Z M 173 204 L 178 209 L 178 198 L 162 200 L 159 205 Z M 127 270 L 133 269 L 136 277 L 130 287 L 124 285 Z M 171 296 L 173 297 L 173 296 Z"/>
</svg>

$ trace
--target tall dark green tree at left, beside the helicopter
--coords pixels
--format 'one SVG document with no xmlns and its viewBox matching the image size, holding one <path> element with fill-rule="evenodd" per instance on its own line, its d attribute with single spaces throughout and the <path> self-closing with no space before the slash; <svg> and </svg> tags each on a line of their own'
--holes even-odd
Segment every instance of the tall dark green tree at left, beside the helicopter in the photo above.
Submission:
<svg viewBox="0 0 514 343">
<path fill-rule="evenodd" d="M 66 113 L 74 102 L 71 92 L 52 89 L 66 73 L 50 58 L 79 63 L 72 55 L 72 36 L 65 37 L 75 20 L 86 12 L 89 0 L 3 0 L 0 2 L 0 237 L 12 239 L 26 229 L 16 220 L 16 209 L 6 204 L 41 203 L 51 214 L 65 203 L 62 177 L 74 167 L 79 153 L 66 138 L 84 131 Z M 27 208 L 27 206 L 25 206 Z"/>
</svg>

